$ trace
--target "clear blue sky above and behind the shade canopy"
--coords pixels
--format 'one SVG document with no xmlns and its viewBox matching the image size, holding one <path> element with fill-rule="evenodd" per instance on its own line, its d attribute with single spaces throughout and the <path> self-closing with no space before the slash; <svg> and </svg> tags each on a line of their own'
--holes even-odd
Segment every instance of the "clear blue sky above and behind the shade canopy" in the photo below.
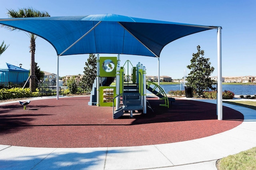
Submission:
<svg viewBox="0 0 256 170">
<path fill-rule="evenodd" d="M 1 2 L 0 18 L 8 18 L 8 9 L 32 7 L 50 16 L 87 16 L 118 14 L 135 18 L 162 20 L 222 27 L 222 76 L 256 76 L 256 1 L 255 0 L 5 0 Z M 9 63 L 30 69 L 30 38 L 23 31 L 0 27 L 0 43 L 9 47 L 0 56 L 0 64 Z M 217 30 L 188 35 L 166 45 L 160 53 L 160 76 L 180 79 L 190 70 L 192 54 L 197 45 L 204 50 L 217 76 Z M 84 74 L 88 54 L 59 58 L 60 76 Z M 116 54 L 100 54 L 115 57 Z M 158 75 L 158 59 L 135 55 L 120 55 L 121 65 L 130 60 L 146 66 L 146 74 Z M 35 62 L 41 70 L 57 73 L 57 53 L 50 43 L 36 39 Z"/>
</svg>

